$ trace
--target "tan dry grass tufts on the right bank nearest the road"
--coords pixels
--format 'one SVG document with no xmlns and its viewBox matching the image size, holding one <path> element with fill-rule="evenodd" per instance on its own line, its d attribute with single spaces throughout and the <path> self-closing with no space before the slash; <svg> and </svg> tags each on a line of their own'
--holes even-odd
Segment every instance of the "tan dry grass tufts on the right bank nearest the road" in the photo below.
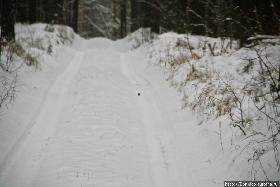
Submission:
<svg viewBox="0 0 280 187">
<path fill-rule="evenodd" d="M 190 107 L 198 115 L 207 114 L 211 118 L 227 114 L 231 116 L 234 124 L 241 122 L 242 127 L 251 121 L 246 118 L 242 109 L 243 100 L 245 97 L 248 98 L 248 95 L 230 81 L 234 80 L 234 77 L 230 77 L 229 80 L 226 77 L 223 80 L 207 62 L 207 58 L 203 57 L 232 52 L 229 49 L 229 40 L 221 39 L 220 45 L 216 42 L 211 45 L 207 39 L 199 39 L 197 42 L 189 36 L 171 42 L 167 42 L 167 39 L 165 41 L 166 43 L 162 44 L 164 50 L 159 54 L 155 50 L 150 51 L 150 57 L 157 59 L 158 65 L 169 73 L 167 80 L 171 86 L 184 92 L 182 108 Z M 194 41 L 197 43 L 192 43 Z M 183 79 L 176 80 L 182 71 L 185 74 Z M 186 93 L 185 89 L 190 85 L 193 85 L 191 86 L 193 90 Z M 190 98 L 189 95 L 192 97 Z"/>
</svg>

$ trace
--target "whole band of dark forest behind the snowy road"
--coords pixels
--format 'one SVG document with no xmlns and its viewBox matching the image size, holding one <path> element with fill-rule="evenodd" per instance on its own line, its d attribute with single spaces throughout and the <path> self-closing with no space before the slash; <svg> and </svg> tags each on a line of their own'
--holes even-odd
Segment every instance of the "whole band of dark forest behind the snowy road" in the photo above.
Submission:
<svg viewBox="0 0 280 187">
<path fill-rule="evenodd" d="M 13 24 L 72 27 L 85 38 L 125 37 L 140 27 L 238 40 L 280 34 L 277 0 L 1 0 L 1 41 L 14 37 Z"/>
</svg>

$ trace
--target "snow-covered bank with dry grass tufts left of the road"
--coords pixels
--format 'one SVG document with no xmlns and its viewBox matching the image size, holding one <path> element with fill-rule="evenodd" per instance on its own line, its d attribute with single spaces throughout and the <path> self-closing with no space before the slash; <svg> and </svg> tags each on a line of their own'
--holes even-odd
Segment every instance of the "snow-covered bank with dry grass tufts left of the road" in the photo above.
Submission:
<svg viewBox="0 0 280 187">
<path fill-rule="evenodd" d="M 62 25 L 16 24 L 15 28 L 15 41 L 1 43 L 0 109 L 15 98 L 17 70 L 24 65 L 42 69 L 44 58 L 58 51 L 60 42 L 71 44 L 74 40 L 74 31 Z"/>
</svg>

